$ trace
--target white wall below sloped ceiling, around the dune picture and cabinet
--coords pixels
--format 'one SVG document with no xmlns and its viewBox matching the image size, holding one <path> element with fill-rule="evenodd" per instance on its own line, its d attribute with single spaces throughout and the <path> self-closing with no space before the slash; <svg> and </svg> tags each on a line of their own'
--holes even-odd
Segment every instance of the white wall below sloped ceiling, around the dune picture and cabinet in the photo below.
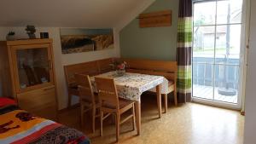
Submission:
<svg viewBox="0 0 256 144">
<path fill-rule="evenodd" d="M 0 27 L 0 40 L 5 40 L 5 36 L 9 31 L 14 31 L 18 38 L 27 37 L 25 27 Z M 56 73 L 56 84 L 58 91 L 59 109 L 67 107 L 67 87 L 64 76 L 63 66 L 75 64 L 79 62 L 85 62 L 90 60 L 99 60 L 109 57 L 119 57 L 119 32 L 114 30 L 114 49 L 99 50 L 95 52 L 86 52 L 78 54 L 61 54 L 61 37 L 59 27 L 39 27 L 37 28 L 37 37 L 39 32 L 49 32 L 49 37 L 53 38 L 53 49 L 55 55 L 55 73 Z M 0 81 L 1 83 L 1 81 Z M 1 84 L 0 84 L 1 85 Z M 0 91 L 1 95 L 1 91 Z M 73 99 L 77 102 L 77 99 Z M 73 103 L 74 103 L 73 102 Z"/>
</svg>

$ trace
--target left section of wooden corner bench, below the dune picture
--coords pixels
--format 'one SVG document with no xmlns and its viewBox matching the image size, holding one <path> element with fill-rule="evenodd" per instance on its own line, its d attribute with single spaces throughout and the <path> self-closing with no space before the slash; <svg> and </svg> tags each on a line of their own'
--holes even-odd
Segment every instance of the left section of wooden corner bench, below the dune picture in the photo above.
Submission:
<svg viewBox="0 0 256 144">
<path fill-rule="evenodd" d="M 113 67 L 109 64 L 113 63 L 113 58 L 94 60 L 74 65 L 64 66 L 64 72 L 67 83 L 68 107 L 71 106 L 72 95 L 79 95 L 78 85 L 76 84 L 75 74 L 86 74 L 94 76 L 104 72 L 113 71 Z"/>
</svg>

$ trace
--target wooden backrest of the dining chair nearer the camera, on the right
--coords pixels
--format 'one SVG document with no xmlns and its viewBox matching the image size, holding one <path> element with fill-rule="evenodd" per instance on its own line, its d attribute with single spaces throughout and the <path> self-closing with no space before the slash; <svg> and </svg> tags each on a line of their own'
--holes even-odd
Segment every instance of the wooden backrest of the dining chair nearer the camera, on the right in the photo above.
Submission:
<svg viewBox="0 0 256 144">
<path fill-rule="evenodd" d="M 119 109 L 119 96 L 113 78 L 96 77 L 95 81 L 100 103 L 104 104 L 104 102 L 106 102 L 112 106 L 115 106 L 116 109 Z"/>
</svg>

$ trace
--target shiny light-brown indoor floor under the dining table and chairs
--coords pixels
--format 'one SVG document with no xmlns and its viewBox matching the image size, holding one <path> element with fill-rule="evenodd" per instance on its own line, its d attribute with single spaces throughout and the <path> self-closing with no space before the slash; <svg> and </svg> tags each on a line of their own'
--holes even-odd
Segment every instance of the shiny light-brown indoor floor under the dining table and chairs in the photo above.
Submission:
<svg viewBox="0 0 256 144">
<path fill-rule="evenodd" d="M 187 103 L 168 108 L 158 118 L 154 95 L 142 96 L 142 135 L 132 131 L 131 121 L 120 127 L 119 143 L 124 144 L 241 144 L 244 117 L 240 112 Z M 84 128 L 79 126 L 79 107 L 62 112 L 61 124 L 81 130 L 90 137 L 92 144 L 115 143 L 115 126 L 109 119 L 103 124 L 103 136 L 99 125 L 91 134 L 90 115 L 86 116 Z M 96 122 L 99 124 L 99 120 Z"/>
</svg>

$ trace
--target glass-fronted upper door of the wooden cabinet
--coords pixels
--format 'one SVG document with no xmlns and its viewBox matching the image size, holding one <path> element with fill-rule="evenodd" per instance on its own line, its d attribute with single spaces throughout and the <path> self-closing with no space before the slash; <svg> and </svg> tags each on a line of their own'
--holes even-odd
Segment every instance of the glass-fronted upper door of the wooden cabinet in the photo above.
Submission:
<svg viewBox="0 0 256 144">
<path fill-rule="evenodd" d="M 17 93 L 54 85 L 50 44 L 12 46 Z"/>
</svg>

